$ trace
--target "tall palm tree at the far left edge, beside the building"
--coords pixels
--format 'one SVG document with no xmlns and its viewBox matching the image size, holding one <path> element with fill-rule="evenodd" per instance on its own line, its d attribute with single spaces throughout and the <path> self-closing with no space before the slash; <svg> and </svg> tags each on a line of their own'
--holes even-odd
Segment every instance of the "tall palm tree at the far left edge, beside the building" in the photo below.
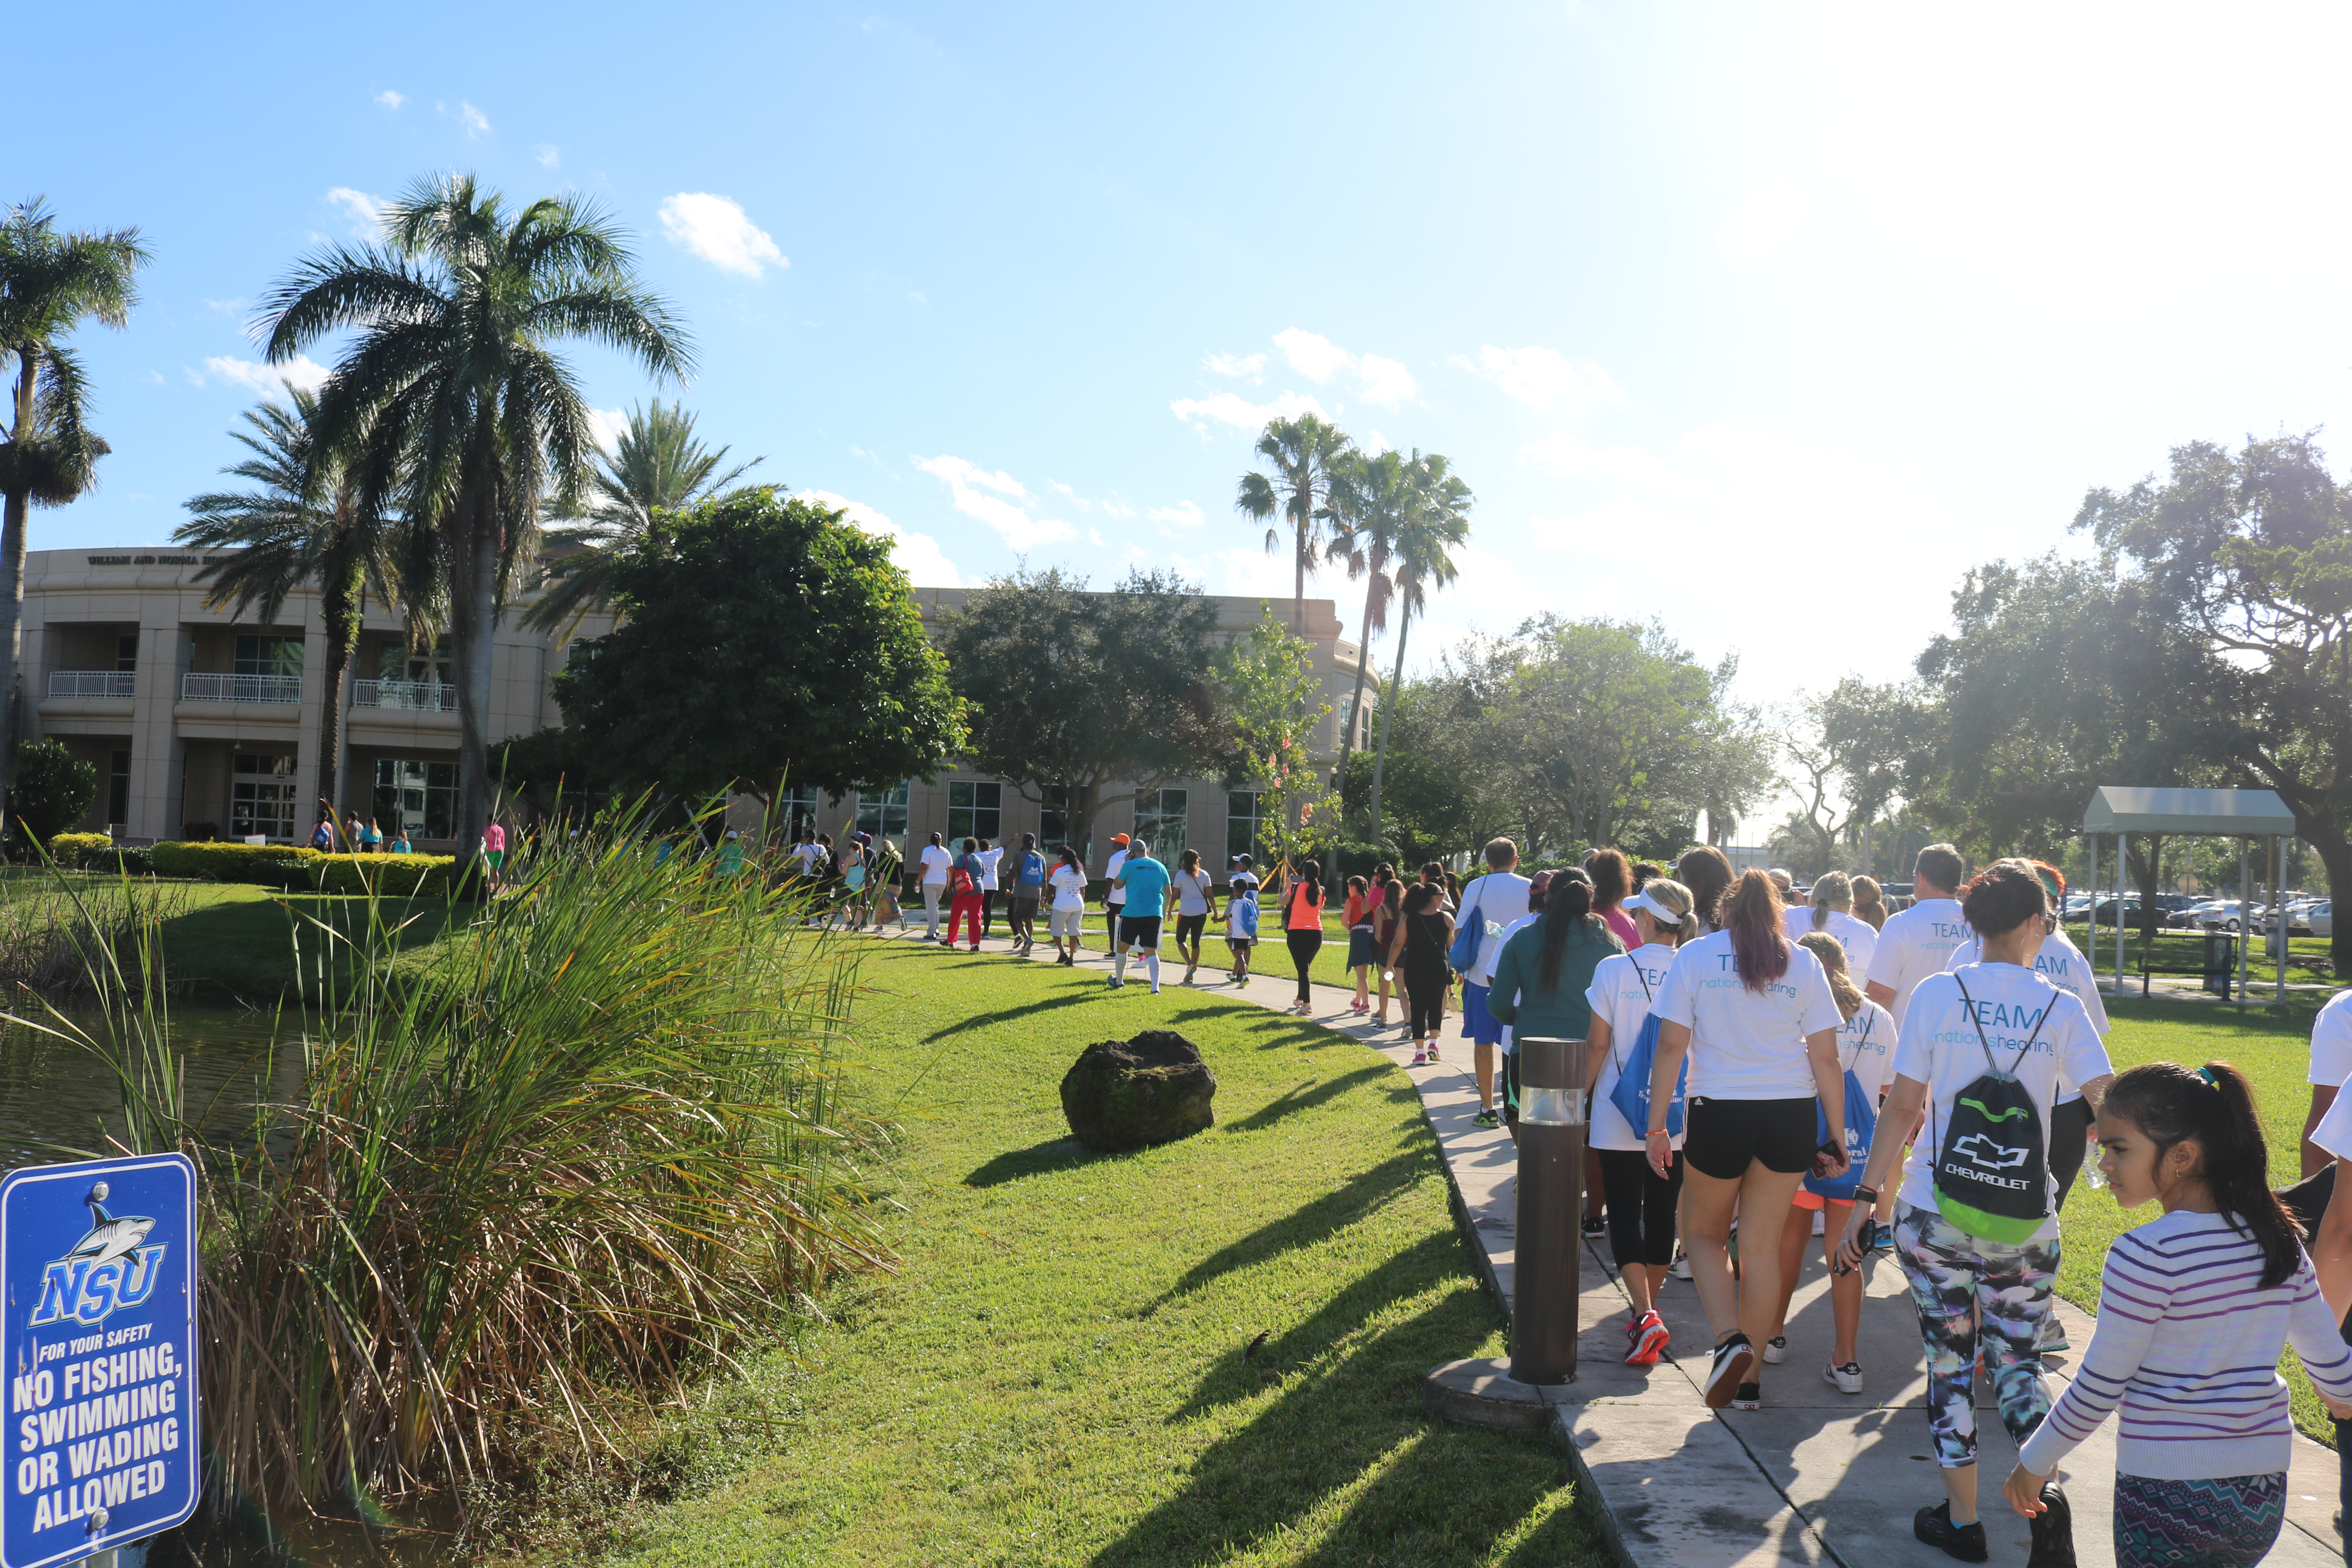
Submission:
<svg viewBox="0 0 2352 1568">
<path fill-rule="evenodd" d="M 129 322 L 148 249 L 136 228 L 59 233 L 35 197 L 0 219 L 0 367 L 16 364 L 0 442 L 0 802 L 16 778 L 16 670 L 24 658 L 26 512 L 66 505 L 94 482 L 106 442 L 82 423 L 82 364 L 64 339 L 96 320 Z"/>
</svg>

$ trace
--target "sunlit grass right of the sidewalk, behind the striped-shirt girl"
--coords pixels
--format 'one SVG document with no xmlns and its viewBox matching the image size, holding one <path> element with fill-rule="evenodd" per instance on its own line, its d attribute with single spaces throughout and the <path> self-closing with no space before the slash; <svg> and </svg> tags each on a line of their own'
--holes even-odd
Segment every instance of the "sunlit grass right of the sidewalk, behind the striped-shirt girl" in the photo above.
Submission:
<svg viewBox="0 0 2352 1568">
<path fill-rule="evenodd" d="M 2286 1013 L 2267 1013 L 2260 1006 L 2237 1009 L 2197 1001 L 2110 1001 L 2114 1032 L 2107 1034 L 2107 1056 L 2117 1070 L 2136 1063 L 2187 1063 L 2201 1067 L 2211 1060 L 2237 1065 L 2253 1079 L 2256 1103 L 2263 1107 L 2263 1128 L 2270 1133 L 2270 1185 L 2284 1187 L 2300 1173 L 2303 1117 L 2310 1112 L 2312 1091 L 2305 1084 L 2310 1067 L 2312 1013 L 2317 999 L 2296 999 Z M 2089 1166 L 2084 1166 L 2089 1171 Z M 2147 1204 L 2131 1213 L 2114 1206 L 2114 1197 L 2093 1190 L 2086 1180 L 2074 1182 L 2065 1201 L 2065 1255 L 2058 1267 L 2058 1293 L 2077 1307 L 2098 1307 L 2098 1279 L 2107 1262 L 2107 1244 L 2117 1232 L 2154 1220 L 2159 1208 Z M 2082 1352 L 2082 1345 L 2074 1347 Z M 2296 1396 L 2296 1425 L 2328 1443 L 2336 1429 L 2319 1396 L 2286 1352 L 2286 1382 Z"/>
</svg>

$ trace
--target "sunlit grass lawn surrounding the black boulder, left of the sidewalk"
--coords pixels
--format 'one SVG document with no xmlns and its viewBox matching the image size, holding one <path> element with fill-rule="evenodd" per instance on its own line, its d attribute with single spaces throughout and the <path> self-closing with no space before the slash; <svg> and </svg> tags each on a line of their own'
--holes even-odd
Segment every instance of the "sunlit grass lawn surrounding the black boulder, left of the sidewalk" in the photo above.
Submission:
<svg viewBox="0 0 2352 1568">
<path fill-rule="evenodd" d="M 1599 1563 L 1541 1436 L 1421 1413 L 1503 1354 L 1404 1072 L 1256 1006 L 875 945 L 851 1091 L 903 1126 L 896 1279 L 755 1361 L 781 1425 L 630 1563 Z M 1162 1023 L 1218 1126 L 1065 1143 L 1094 1039 Z"/>
</svg>

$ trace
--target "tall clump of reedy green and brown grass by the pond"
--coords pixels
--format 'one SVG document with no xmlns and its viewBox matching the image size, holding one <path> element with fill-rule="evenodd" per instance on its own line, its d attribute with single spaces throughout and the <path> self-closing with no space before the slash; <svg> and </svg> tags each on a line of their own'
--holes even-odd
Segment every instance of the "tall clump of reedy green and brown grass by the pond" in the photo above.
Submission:
<svg viewBox="0 0 2352 1568">
<path fill-rule="evenodd" d="M 233 1138 L 179 1103 L 165 987 L 115 966 L 85 1039 L 132 1145 L 202 1171 L 221 1495 L 369 1509 L 626 1458 L 781 1307 L 884 1260 L 835 1098 L 854 943 L 640 825 L 532 856 L 423 961 L 390 961 L 412 900 L 299 929 L 327 997 L 301 1086 Z"/>
</svg>

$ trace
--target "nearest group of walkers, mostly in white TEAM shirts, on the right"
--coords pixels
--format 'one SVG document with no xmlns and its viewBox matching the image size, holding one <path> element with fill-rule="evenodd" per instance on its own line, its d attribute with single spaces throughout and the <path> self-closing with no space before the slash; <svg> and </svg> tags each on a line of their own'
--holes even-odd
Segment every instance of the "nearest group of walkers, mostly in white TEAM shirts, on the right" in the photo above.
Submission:
<svg viewBox="0 0 2352 1568">
<path fill-rule="evenodd" d="M 2253 1091 L 2227 1063 L 2112 1070 L 2089 964 L 2058 929 L 2053 865 L 2011 858 L 1966 877 L 1938 844 L 1898 914 L 1865 884 L 1832 872 L 1792 905 L 1773 875 L 1733 877 L 1712 849 L 1672 875 L 1599 851 L 1581 870 L 1519 877 L 1496 842 L 1463 889 L 1472 938 L 1454 957 L 1482 1100 L 1496 1093 L 1501 1119 L 1517 1119 L 1512 1037 L 1588 1041 L 1602 1194 L 1588 1229 L 1606 1229 L 1625 1284 L 1625 1361 L 1668 1354 L 1656 1300 L 1686 1269 L 1712 1335 L 1708 1403 L 1759 1408 L 1818 1234 L 1832 1274 L 1820 1375 L 1858 1394 L 1863 1265 L 1891 1253 L 1943 1476 L 1943 1497 L 1912 1519 L 1922 1542 L 1987 1559 L 1985 1378 L 2018 1446 L 2004 1502 L 2032 1521 L 2030 1568 L 2074 1563 L 2058 1467 L 2110 1413 L 2119 1563 L 2260 1561 L 2284 1523 L 2293 1443 L 2281 1347 L 2333 1415 L 2352 1415 L 2338 1333 L 2352 1199 L 2338 1215 L 2326 1192 L 2281 1201 L 2267 1187 Z M 2321 1013 L 2321 1034 L 2352 1046 L 2352 1006 Z M 2314 1081 L 2328 1077 L 2319 1056 Z M 2093 1140 L 2117 1201 L 2157 1218 L 2114 1241 L 2098 1331 L 2053 1401 L 2042 1356 L 2065 1347 L 2051 1312 L 2058 1213 Z M 2314 1091 L 2312 1140 L 2352 1157 L 2352 1098 Z"/>
</svg>

